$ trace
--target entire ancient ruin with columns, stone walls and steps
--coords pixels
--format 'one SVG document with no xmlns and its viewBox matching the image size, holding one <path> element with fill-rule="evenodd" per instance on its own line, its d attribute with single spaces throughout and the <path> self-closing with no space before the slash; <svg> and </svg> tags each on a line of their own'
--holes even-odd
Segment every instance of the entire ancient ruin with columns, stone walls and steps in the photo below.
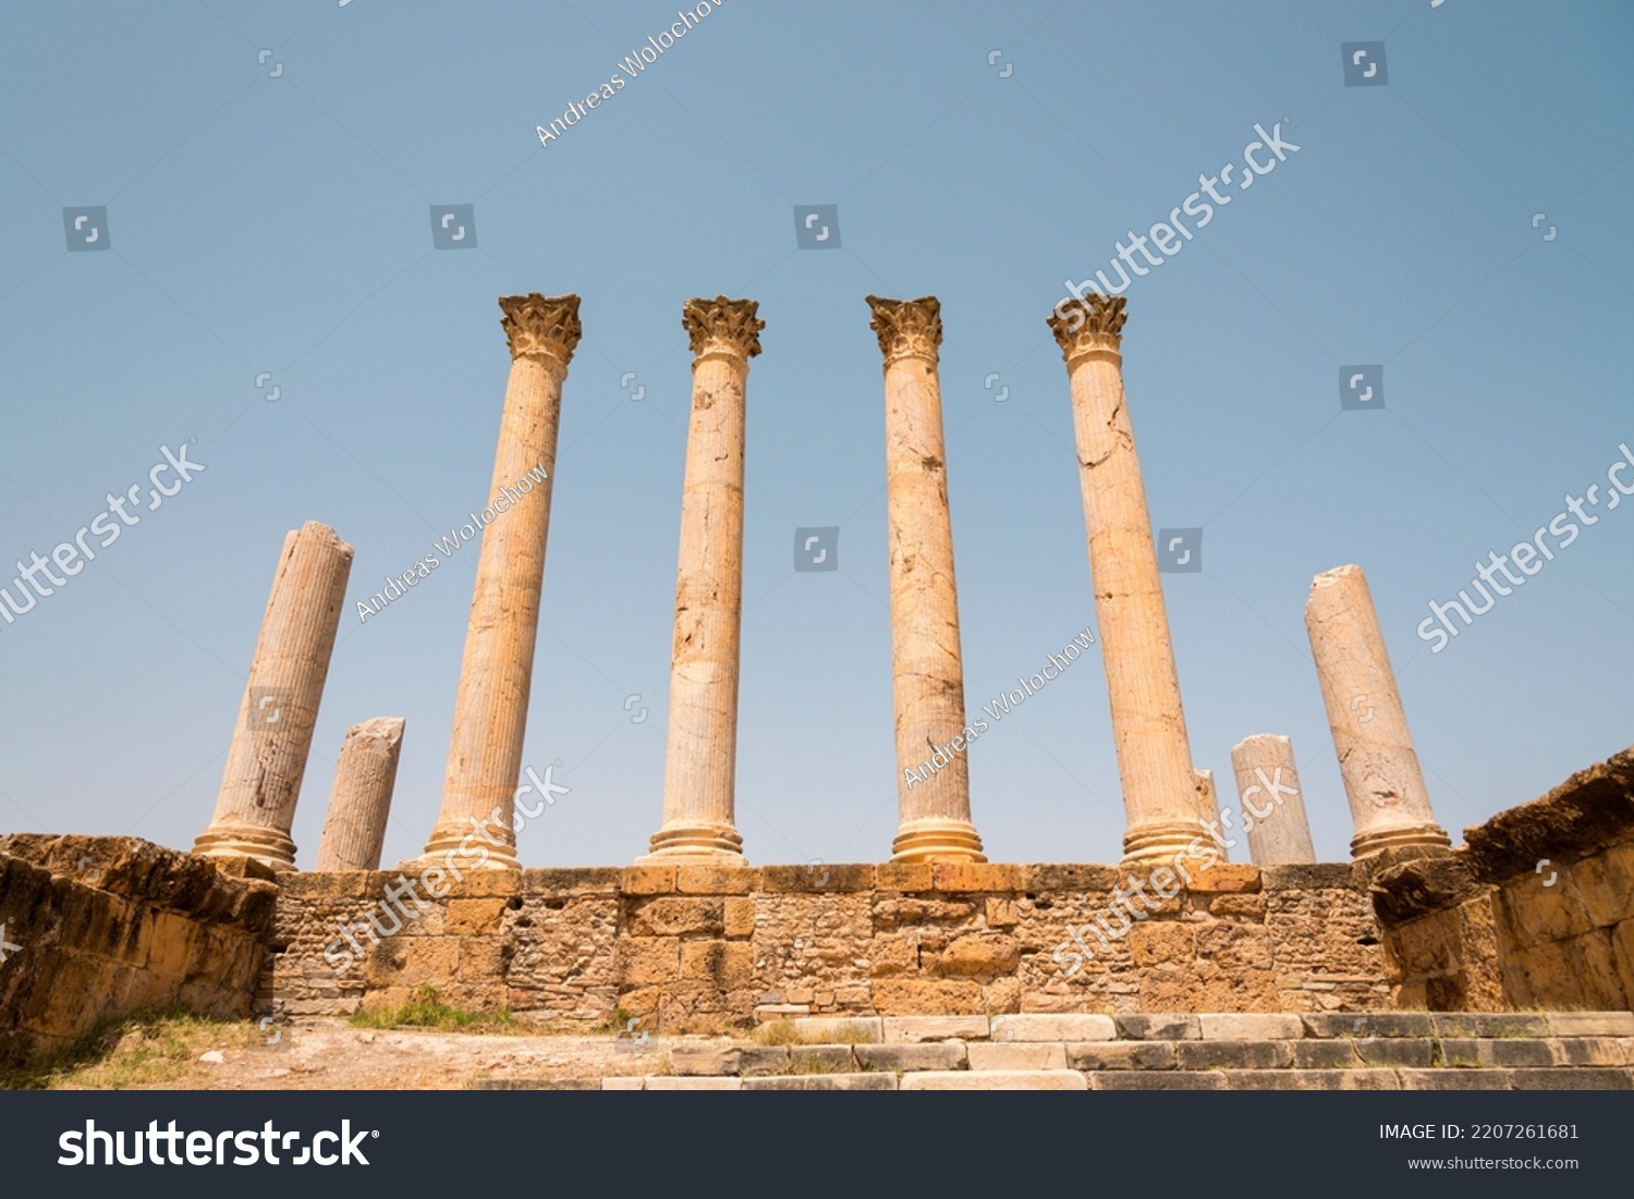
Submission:
<svg viewBox="0 0 1634 1199">
<path fill-rule="evenodd" d="M 1505 1088 L 1634 1086 L 1634 750 L 1454 849 L 1356 565 L 1317 575 L 1306 608 L 1351 861 L 1314 861 L 1292 747 L 1270 733 L 1232 750 L 1253 861 L 1227 861 L 1230 813 L 1194 766 L 1181 709 L 1121 297 L 1088 296 L 1049 325 L 1070 381 L 1124 854 L 985 859 L 961 743 L 940 304 L 868 302 L 884 358 L 900 769 L 889 861 L 748 866 L 735 828 L 745 386 L 763 322 L 724 296 L 681 312 L 693 403 L 660 827 L 632 866 L 516 861 L 549 477 L 580 325 L 577 296 L 505 297 L 492 492 L 505 516 L 482 541 L 425 858 L 377 869 L 402 720 L 376 719 L 348 732 L 317 869 L 294 869 L 291 818 L 351 562 L 309 523 L 284 544 L 194 853 L 0 838 L 5 912 L 54 949 L 0 974 L 0 1060 L 155 1003 L 343 1016 L 433 983 L 474 1008 L 587 1029 L 627 1018 L 660 1037 L 792 1021 L 835 1042 L 807 1057 L 827 1055 L 832 1086 L 855 1090 L 1474 1085 L 1461 1072 Z M 529 470 L 542 484 L 513 493 Z M 944 764 L 926 776 L 933 755 Z M 479 861 L 475 825 L 493 835 Z M 799 1054 L 676 1042 L 667 1068 L 606 1085 L 812 1085 Z"/>
</svg>

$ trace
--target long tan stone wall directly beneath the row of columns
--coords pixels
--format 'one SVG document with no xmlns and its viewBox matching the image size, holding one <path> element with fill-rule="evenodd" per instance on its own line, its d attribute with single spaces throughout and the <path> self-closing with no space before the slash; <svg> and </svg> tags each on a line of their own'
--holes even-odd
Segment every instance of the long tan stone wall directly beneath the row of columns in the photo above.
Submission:
<svg viewBox="0 0 1634 1199">
<path fill-rule="evenodd" d="M 279 879 L 268 990 L 279 1013 L 346 1014 L 435 983 L 461 1006 L 583 1023 L 623 1008 L 670 1032 L 807 1013 L 1389 1006 L 1366 879 L 1351 866 L 1222 864 L 1167 900 L 1149 876 L 1000 864 L 480 872 L 435 880 L 448 890 L 425 905 L 404 897 L 417 913 L 405 920 L 382 903 L 389 885 L 402 894 L 397 874 L 294 874 Z M 1132 882 L 1150 907 L 1132 900 L 1144 918 L 1101 946 L 1082 926 Z M 1172 876 L 1162 882 L 1173 890 Z"/>
</svg>

